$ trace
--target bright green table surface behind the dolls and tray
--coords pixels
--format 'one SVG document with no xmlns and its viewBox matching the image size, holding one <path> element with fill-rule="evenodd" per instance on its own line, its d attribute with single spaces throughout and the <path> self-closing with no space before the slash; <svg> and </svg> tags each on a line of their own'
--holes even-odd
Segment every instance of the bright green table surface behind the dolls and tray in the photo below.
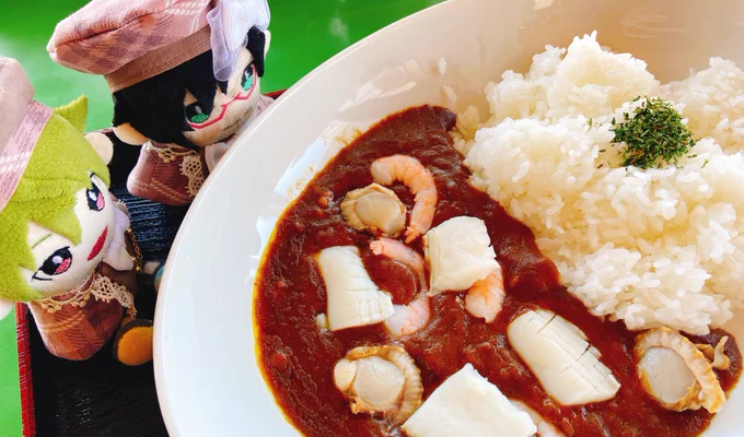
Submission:
<svg viewBox="0 0 744 437">
<path fill-rule="evenodd" d="M 120 0 L 109 0 L 120 1 Z M 269 0 L 271 47 L 263 91 L 289 87 L 312 69 L 367 35 L 440 0 Z M 59 106 L 89 97 L 90 130 L 111 126 L 112 99 L 101 76 L 53 62 L 46 44 L 57 22 L 84 0 L 0 0 L 0 55 L 16 58 L 37 101 Z M 329 92 L 333 92 L 329 90 Z M 15 323 L 0 321 L 0 437 L 21 436 Z"/>
</svg>

